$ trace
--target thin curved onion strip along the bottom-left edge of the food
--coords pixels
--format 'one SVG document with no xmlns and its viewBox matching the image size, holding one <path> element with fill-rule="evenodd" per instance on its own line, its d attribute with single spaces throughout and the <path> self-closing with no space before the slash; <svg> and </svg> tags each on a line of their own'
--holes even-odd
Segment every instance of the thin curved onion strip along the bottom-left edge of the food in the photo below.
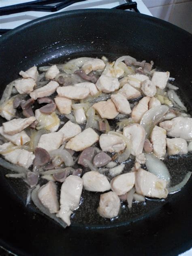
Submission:
<svg viewBox="0 0 192 256">
<path fill-rule="evenodd" d="M 47 215 L 49 218 L 55 220 L 56 222 L 58 222 L 63 228 L 66 228 L 67 224 L 62 221 L 60 218 L 57 218 L 55 214 L 50 213 L 49 210 L 47 208 L 45 208 L 43 206 L 43 204 L 41 203 L 41 201 L 38 198 L 38 190 L 39 190 L 40 186 L 36 186 L 36 188 L 32 191 L 31 193 L 31 198 L 32 201 L 34 203 L 34 205 L 45 215 Z"/>
</svg>

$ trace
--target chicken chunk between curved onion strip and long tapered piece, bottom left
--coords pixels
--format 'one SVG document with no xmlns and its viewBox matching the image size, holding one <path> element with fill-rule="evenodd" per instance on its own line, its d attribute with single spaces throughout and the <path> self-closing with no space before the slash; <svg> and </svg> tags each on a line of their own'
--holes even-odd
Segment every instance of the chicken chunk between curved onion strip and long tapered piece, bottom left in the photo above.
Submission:
<svg viewBox="0 0 192 256">
<path fill-rule="evenodd" d="M 49 209 L 50 213 L 59 211 L 59 202 L 57 197 L 57 185 L 53 181 L 47 182 L 38 190 L 38 198 L 41 203 Z"/>
</svg>

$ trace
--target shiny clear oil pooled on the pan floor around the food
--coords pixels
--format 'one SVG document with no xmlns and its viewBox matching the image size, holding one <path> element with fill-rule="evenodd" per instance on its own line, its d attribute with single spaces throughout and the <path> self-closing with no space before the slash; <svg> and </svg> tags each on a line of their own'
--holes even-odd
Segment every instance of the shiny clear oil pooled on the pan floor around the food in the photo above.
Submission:
<svg viewBox="0 0 192 256">
<path fill-rule="evenodd" d="M 103 55 L 105 55 L 105 53 L 102 53 L 102 54 L 82 53 L 81 55 L 78 53 L 78 55 L 70 56 L 70 59 L 84 57 L 84 56 L 87 56 L 87 57 L 98 56 L 100 58 Z M 105 55 L 105 56 L 107 56 L 110 61 L 113 61 L 119 57 L 115 54 Z M 54 62 L 51 62 L 51 64 L 64 63 L 67 60 L 63 58 L 57 59 Z M 40 66 L 47 65 L 47 64 L 48 63 L 44 63 L 44 64 L 41 64 Z M 15 77 L 15 79 L 16 78 L 17 77 Z M 177 81 L 174 82 L 174 85 L 176 86 L 178 85 Z M 181 100 L 184 102 L 184 104 L 187 107 L 189 107 L 188 102 L 186 102 L 186 100 L 182 97 L 180 90 L 178 90 L 178 92 L 179 92 L 179 96 L 181 97 Z M 190 114 L 192 113 L 192 110 L 189 108 L 188 108 L 188 113 Z M 0 118 L 0 121 L 1 121 L 1 124 L 2 122 L 4 122 L 2 118 Z M 111 125 L 113 126 L 114 124 L 111 124 Z M 186 173 L 190 171 L 190 166 L 192 166 L 192 152 L 183 156 L 166 157 L 164 160 L 164 163 L 169 169 L 169 172 L 171 175 L 170 185 L 175 186 L 177 183 L 181 182 L 184 176 L 186 175 Z M 134 159 L 131 158 L 130 160 L 127 161 L 126 167 L 124 168 L 123 172 L 126 173 L 127 171 L 129 171 L 133 165 L 134 165 Z M 145 165 L 143 165 L 142 167 L 146 169 Z M 6 173 L 9 173 L 9 171 L 7 171 Z M 6 173 L 4 172 L 4 175 Z M 27 192 L 28 192 L 26 183 L 21 179 L 6 179 L 6 180 L 9 183 L 9 185 L 13 188 L 17 196 L 21 199 L 21 201 L 23 202 L 23 205 L 25 205 Z M 47 182 L 46 180 L 42 180 L 41 185 L 43 185 L 43 183 L 46 183 L 46 182 Z M 61 183 L 58 185 L 59 185 L 58 188 L 60 190 Z M 58 194 L 59 192 L 60 191 L 58 191 Z M 158 211 L 172 197 L 177 197 L 177 193 L 175 193 L 175 194 L 169 195 L 166 199 L 147 198 L 145 202 L 133 203 L 132 208 L 128 208 L 127 203 L 123 202 L 118 217 L 112 220 L 109 220 L 109 219 L 102 218 L 97 213 L 100 194 L 101 194 L 100 192 L 95 193 L 95 192 L 88 192 L 86 190 L 83 190 L 81 204 L 79 208 L 76 211 L 74 211 L 73 215 L 71 216 L 71 226 L 84 226 L 87 228 L 108 228 L 111 226 L 122 225 L 127 222 L 133 222 L 135 220 L 142 219 L 143 217 L 145 217 L 146 214 L 149 214 L 152 211 Z M 29 208 L 29 211 L 33 212 L 34 218 L 36 218 L 36 213 L 38 214 L 40 213 L 40 211 L 38 211 L 38 209 L 34 207 L 33 203 L 30 203 L 27 207 Z M 45 216 L 45 218 L 48 218 L 48 217 Z"/>
</svg>

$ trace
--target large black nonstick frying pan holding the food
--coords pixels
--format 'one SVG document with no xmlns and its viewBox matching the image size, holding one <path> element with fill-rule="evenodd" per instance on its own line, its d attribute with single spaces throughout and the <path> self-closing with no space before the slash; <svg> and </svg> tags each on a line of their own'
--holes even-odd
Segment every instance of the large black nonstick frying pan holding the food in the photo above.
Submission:
<svg viewBox="0 0 192 256">
<path fill-rule="evenodd" d="M 0 38 L 1 93 L 19 70 L 68 57 L 132 55 L 169 70 L 192 107 L 192 35 L 160 19 L 117 10 L 80 10 L 36 19 Z M 169 162 L 181 176 L 192 155 Z M 177 255 L 192 247 L 192 179 L 165 201 L 122 213 L 109 222 L 89 216 L 65 230 L 25 207 L 26 187 L 0 171 L 0 245 L 20 255 Z M 179 179 L 178 179 L 179 182 Z M 95 205 L 94 199 L 91 201 Z M 81 208 L 81 207 L 80 207 Z M 83 214 L 83 213 L 82 213 Z M 91 218 L 93 214 L 93 223 Z"/>
</svg>

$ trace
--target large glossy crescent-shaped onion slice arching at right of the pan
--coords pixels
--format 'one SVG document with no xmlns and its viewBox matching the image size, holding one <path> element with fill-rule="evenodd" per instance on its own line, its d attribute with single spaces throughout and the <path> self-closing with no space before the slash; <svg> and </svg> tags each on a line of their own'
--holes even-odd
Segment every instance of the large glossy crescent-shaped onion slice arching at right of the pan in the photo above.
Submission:
<svg viewBox="0 0 192 256">
<path fill-rule="evenodd" d="M 149 135 L 153 130 L 154 126 L 156 126 L 156 124 L 158 124 L 159 122 L 162 122 L 162 120 L 164 119 L 164 115 L 168 110 L 169 107 L 161 105 L 149 109 L 147 112 L 145 112 L 140 124 L 145 129 L 147 139 L 149 138 Z"/>
</svg>

